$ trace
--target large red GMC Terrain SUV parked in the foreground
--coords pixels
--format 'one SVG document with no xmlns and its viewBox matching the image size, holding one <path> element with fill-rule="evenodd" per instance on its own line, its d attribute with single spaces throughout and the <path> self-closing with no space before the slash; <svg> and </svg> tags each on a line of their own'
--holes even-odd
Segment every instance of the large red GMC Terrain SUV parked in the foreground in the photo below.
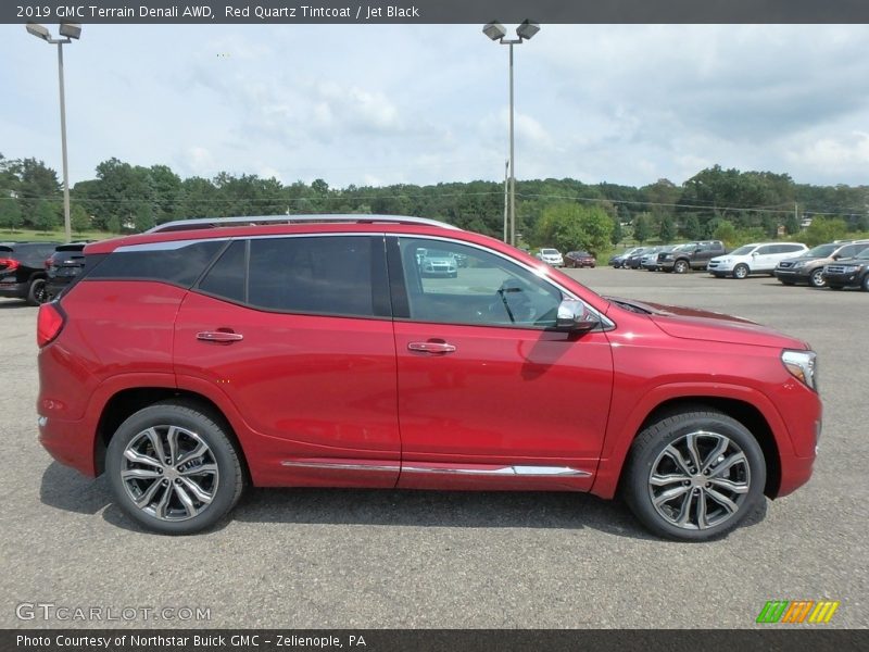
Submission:
<svg viewBox="0 0 869 652">
<path fill-rule="evenodd" d="M 466 264 L 432 277 L 420 249 Z M 442 223 L 200 220 L 85 254 L 39 312 L 39 438 L 160 532 L 253 485 L 620 490 L 704 540 L 811 475 L 805 342 Z"/>
</svg>

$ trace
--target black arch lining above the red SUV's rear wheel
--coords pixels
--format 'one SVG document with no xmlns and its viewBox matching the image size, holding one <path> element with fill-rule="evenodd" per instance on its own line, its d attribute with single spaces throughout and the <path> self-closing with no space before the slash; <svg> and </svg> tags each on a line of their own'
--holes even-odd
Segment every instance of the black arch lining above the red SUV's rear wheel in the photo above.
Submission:
<svg viewBox="0 0 869 652">
<path fill-rule="evenodd" d="M 227 437 L 236 448 L 241 469 L 244 474 L 244 481 L 250 484 L 251 474 L 248 468 L 248 460 L 244 454 L 244 448 L 238 438 L 236 428 L 232 427 L 229 418 L 224 414 L 224 411 L 210 398 L 198 393 L 196 391 L 168 387 L 137 387 L 130 389 L 123 389 L 114 393 L 105 403 L 100 414 L 97 424 L 97 436 L 93 441 L 93 462 L 97 475 L 101 475 L 105 471 L 105 453 L 109 448 L 109 442 L 117 431 L 124 421 L 129 416 L 163 401 L 175 401 L 188 408 L 199 410 L 207 414 L 212 419 L 216 421 L 226 431 Z"/>
</svg>

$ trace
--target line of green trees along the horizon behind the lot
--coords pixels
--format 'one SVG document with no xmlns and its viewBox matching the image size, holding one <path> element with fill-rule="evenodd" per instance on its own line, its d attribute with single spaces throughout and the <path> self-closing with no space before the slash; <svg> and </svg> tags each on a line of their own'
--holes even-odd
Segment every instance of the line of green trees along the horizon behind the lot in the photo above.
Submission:
<svg viewBox="0 0 869 652">
<path fill-rule="evenodd" d="M 594 253 L 626 242 L 678 238 L 767 239 L 801 233 L 814 238 L 869 230 L 869 186 L 796 184 L 786 174 L 719 165 L 676 185 L 642 187 L 576 179 L 516 181 L 517 231 L 529 246 Z M 332 188 L 324 179 L 285 185 L 276 178 L 222 172 L 181 178 L 167 165 L 110 159 L 96 178 L 71 188 L 74 231 L 134 233 L 174 220 L 234 215 L 361 213 L 418 215 L 501 237 L 504 186 L 498 181 Z M 62 224 L 58 173 L 36 159 L 0 154 L 0 229 L 50 231 Z M 807 243 L 811 243 L 808 242 Z"/>
</svg>

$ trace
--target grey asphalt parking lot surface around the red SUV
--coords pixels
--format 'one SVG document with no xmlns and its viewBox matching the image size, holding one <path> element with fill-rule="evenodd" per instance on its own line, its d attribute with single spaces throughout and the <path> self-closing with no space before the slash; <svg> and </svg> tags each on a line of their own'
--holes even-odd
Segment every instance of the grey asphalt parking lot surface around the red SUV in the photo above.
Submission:
<svg viewBox="0 0 869 652">
<path fill-rule="evenodd" d="M 808 340 L 824 401 L 809 485 L 704 544 L 658 540 L 620 502 L 582 494 L 322 489 L 249 491 L 216 530 L 160 537 L 122 514 L 104 479 L 38 444 L 37 310 L 0 300 L 0 627 L 742 628 L 768 600 L 822 599 L 841 601 L 829 627 L 869 626 L 869 294 L 770 277 L 568 273 L 604 294 Z M 22 619 L 22 603 L 136 617 Z M 164 607 L 168 619 L 141 611 Z M 181 617 L 198 609 L 209 618 Z"/>
</svg>

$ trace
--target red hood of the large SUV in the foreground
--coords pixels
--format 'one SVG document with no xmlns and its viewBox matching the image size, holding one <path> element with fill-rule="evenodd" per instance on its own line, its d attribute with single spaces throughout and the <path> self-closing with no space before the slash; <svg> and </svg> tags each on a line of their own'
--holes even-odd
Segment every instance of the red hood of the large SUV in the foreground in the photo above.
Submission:
<svg viewBox="0 0 869 652">
<path fill-rule="evenodd" d="M 779 349 L 808 349 L 803 340 L 760 326 L 742 317 L 734 317 L 695 308 L 664 305 L 607 297 L 625 310 L 647 315 L 670 337 L 682 339 L 774 347 Z"/>
</svg>

